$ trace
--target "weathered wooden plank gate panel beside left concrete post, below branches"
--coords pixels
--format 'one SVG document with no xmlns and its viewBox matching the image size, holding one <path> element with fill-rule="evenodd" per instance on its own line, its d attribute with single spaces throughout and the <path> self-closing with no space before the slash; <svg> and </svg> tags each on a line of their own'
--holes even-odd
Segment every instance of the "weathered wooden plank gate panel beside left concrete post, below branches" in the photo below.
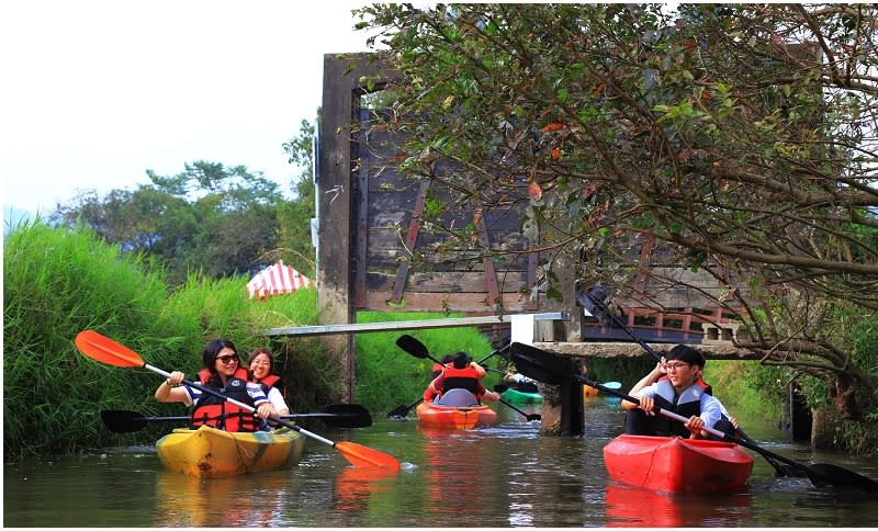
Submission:
<svg viewBox="0 0 878 531">
<path fill-rule="evenodd" d="M 363 125 L 371 117 L 370 111 L 360 111 Z M 536 260 L 524 252 L 483 259 L 474 248 L 469 258 L 408 268 L 405 260 L 412 250 L 436 249 L 450 240 L 443 230 L 419 223 L 426 190 L 447 204 L 453 197 L 447 190 L 437 189 L 436 183 L 401 176 L 394 160 L 402 148 L 386 133 L 360 135 L 357 152 L 356 207 L 357 217 L 362 221 L 356 241 L 356 269 L 361 273 L 356 285 L 358 309 L 493 314 L 500 302 L 504 313 L 539 307 L 539 301 L 529 296 Z M 529 242 L 518 230 L 519 221 L 518 212 L 485 215 L 480 223 L 484 229 L 481 244 L 502 241 L 510 251 L 525 251 Z M 469 203 L 452 207 L 446 211 L 442 222 L 447 227 L 463 228 L 474 222 L 474 212 Z M 414 249 L 407 247 L 412 241 Z"/>
</svg>

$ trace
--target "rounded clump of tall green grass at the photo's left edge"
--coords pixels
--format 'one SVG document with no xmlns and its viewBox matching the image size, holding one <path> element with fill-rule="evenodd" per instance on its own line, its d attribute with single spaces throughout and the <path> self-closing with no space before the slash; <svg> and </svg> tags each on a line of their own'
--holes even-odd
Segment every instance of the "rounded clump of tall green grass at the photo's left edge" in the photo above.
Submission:
<svg viewBox="0 0 878 531">
<path fill-rule="evenodd" d="M 94 329 L 144 354 L 172 323 L 160 308 L 162 278 L 90 231 L 23 222 L 3 246 L 3 453 L 74 452 L 111 438 L 98 411 L 136 397 L 155 381 L 108 369 L 78 353 Z"/>
</svg>

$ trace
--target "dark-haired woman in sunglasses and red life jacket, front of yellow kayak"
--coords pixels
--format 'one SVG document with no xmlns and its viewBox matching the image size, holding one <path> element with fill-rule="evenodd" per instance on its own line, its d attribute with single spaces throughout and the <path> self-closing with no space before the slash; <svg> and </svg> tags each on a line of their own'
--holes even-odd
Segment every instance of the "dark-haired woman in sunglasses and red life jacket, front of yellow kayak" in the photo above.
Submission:
<svg viewBox="0 0 878 531">
<path fill-rule="evenodd" d="M 185 377 L 180 371 L 172 372 L 159 385 L 156 399 L 194 406 L 191 415 L 194 428 L 207 425 L 226 431 L 257 431 L 259 419 L 267 418 L 273 409 L 261 386 L 247 382 L 247 370 L 240 366 L 235 343 L 225 338 L 212 339 L 204 346 L 202 364 L 204 369 L 198 374 L 202 386 L 256 408 L 256 414 L 188 385 L 180 386 Z"/>
</svg>

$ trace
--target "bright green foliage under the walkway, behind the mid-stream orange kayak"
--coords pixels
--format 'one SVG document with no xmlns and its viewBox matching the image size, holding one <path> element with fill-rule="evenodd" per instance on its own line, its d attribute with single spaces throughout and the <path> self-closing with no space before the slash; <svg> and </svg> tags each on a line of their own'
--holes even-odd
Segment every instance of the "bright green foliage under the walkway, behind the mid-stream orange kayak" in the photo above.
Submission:
<svg viewBox="0 0 878 531">
<path fill-rule="evenodd" d="M 384 323 L 447 317 L 462 316 L 424 312 L 359 312 L 357 321 Z M 415 358 L 396 346 L 396 339 L 404 334 L 423 342 L 437 360 L 462 350 L 477 361 L 494 350 L 491 342 L 475 327 L 395 330 L 358 335 L 354 402 L 372 411 L 386 413 L 399 405 L 412 404 L 424 394 L 424 389 L 430 383 L 432 361 Z M 485 382 L 488 382 L 488 379 L 494 381 L 491 374 L 486 376 Z M 485 385 L 489 388 L 488 383 Z"/>
</svg>

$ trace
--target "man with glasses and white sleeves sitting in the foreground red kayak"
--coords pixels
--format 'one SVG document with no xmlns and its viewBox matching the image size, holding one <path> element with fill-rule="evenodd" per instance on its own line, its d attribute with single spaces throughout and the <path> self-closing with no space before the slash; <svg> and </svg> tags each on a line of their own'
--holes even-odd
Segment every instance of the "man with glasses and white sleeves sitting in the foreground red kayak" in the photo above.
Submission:
<svg viewBox="0 0 878 531">
<path fill-rule="evenodd" d="M 629 394 L 640 400 L 640 405 L 622 400 L 626 409 L 624 432 L 634 436 L 678 436 L 711 438 L 702 428 L 713 428 L 728 434 L 734 433 L 734 426 L 723 413 L 725 408 L 719 399 L 706 392 L 701 382 L 705 357 L 697 349 L 677 344 L 662 358 L 655 369 L 643 376 Z M 662 408 L 688 417 L 684 425 L 667 417 L 656 415 Z"/>
</svg>

